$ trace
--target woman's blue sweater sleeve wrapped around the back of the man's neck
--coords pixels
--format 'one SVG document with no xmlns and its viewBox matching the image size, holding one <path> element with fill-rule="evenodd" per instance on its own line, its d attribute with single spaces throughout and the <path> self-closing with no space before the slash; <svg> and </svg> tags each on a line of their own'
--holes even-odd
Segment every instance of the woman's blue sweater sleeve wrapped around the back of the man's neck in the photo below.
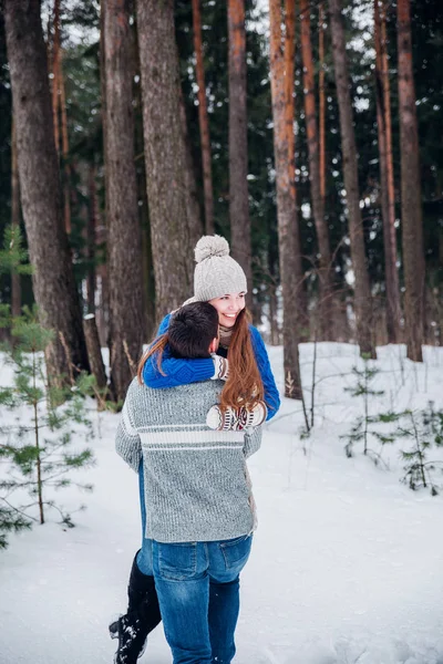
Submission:
<svg viewBox="0 0 443 664">
<path fill-rule="evenodd" d="M 169 326 L 171 313 L 165 315 L 158 328 L 158 334 L 164 334 Z M 215 367 L 212 357 L 177 359 L 172 357 L 166 346 L 162 359 L 163 375 L 158 371 L 155 355 L 148 357 L 143 367 L 143 382 L 148 387 L 165 388 L 208 381 L 214 376 Z"/>
</svg>

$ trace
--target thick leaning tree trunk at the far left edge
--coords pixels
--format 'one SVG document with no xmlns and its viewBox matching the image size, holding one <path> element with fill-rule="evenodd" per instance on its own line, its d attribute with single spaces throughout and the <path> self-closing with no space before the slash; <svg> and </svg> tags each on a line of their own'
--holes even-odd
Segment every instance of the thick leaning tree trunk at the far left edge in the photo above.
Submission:
<svg viewBox="0 0 443 664">
<path fill-rule="evenodd" d="M 60 177 L 54 145 L 47 52 L 40 3 L 6 0 L 4 19 L 11 72 L 21 203 L 29 252 L 34 268 L 33 290 L 44 326 L 55 332 L 47 350 L 54 383 L 69 376 L 69 362 L 89 370 L 79 293 L 66 234 L 62 226 Z"/>
</svg>

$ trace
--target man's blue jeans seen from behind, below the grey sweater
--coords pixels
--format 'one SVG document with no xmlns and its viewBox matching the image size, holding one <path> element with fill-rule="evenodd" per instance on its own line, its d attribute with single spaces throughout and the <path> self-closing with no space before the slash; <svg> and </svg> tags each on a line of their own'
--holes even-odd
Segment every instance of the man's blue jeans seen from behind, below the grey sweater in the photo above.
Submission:
<svg viewBox="0 0 443 664">
<path fill-rule="evenodd" d="M 174 664 L 229 664 L 236 649 L 239 573 L 253 536 L 152 542 L 155 588 Z"/>
</svg>

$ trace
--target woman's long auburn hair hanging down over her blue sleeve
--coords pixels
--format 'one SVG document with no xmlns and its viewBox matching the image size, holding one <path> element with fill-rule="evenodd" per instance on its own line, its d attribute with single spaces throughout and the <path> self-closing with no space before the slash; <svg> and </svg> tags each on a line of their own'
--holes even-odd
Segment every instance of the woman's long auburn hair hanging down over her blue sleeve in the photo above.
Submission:
<svg viewBox="0 0 443 664">
<path fill-rule="evenodd" d="M 265 390 L 250 339 L 249 321 L 250 314 L 244 309 L 234 325 L 228 350 L 229 377 L 220 395 L 222 411 L 228 406 L 251 409 L 264 400 Z"/>
</svg>

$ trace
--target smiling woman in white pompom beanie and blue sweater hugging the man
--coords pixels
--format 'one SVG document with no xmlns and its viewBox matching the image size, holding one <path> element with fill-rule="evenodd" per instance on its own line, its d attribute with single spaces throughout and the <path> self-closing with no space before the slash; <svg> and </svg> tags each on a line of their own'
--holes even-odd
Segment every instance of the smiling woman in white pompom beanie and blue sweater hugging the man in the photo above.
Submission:
<svg viewBox="0 0 443 664">
<path fill-rule="evenodd" d="M 245 308 L 247 280 L 240 264 L 229 256 L 229 245 L 220 236 L 204 236 L 195 247 L 197 262 L 194 272 L 194 298 L 190 301 L 209 302 L 218 312 L 219 346 L 212 359 L 186 359 L 174 356 L 166 346 L 158 357 L 147 352 L 142 359 L 143 381 L 148 387 L 165 388 L 199 381 L 225 380 L 220 403 L 208 413 L 212 428 L 241 429 L 260 424 L 264 408 L 250 397 L 255 395 L 257 381 L 254 365 L 261 377 L 260 398 L 266 404 L 265 416 L 270 419 L 280 406 L 280 397 L 270 367 L 266 346 L 260 333 L 249 323 Z M 167 331 L 171 313 L 162 321 L 158 334 Z M 229 406 L 236 394 L 238 408 Z M 257 400 L 259 401 L 259 400 Z M 265 417 L 264 417 L 265 418 Z M 261 419 L 262 421 L 262 419 Z M 143 538 L 146 532 L 143 467 L 140 468 L 140 496 Z M 127 613 L 110 625 L 113 637 L 119 637 L 115 664 L 135 664 L 143 652 L 147 634 L 161 621 L 158 603 L 152 577 L 152 556 L 147 542 L 136 553 L 128 584 Z"/>
</svg>

